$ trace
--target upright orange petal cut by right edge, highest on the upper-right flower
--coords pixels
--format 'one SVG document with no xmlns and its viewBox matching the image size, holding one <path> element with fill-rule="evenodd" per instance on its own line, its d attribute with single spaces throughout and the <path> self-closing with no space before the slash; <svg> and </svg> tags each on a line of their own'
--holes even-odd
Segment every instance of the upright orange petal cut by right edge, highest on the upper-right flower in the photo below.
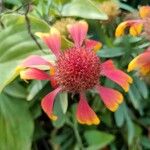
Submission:
<svg viewBox="0 0 150 150">
<path fill-rule="evenodd" d="M 150 6 L 142 6 L 139 9 L 139 13 L 141 18 L 150 17 Z"/>
</svg>

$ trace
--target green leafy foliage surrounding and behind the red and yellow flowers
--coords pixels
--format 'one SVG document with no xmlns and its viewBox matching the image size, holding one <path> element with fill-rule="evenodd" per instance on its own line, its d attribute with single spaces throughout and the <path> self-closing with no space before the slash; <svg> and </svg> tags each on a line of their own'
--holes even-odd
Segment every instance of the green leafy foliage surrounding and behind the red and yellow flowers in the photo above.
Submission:
<svg viewBox="0 0 150 150">
<path fill-rule="evenodd" d="M 114 31 L 123 16 L 106 23 L 107 15 L 97 6 L 102 1 L 3 1 L 0 7 L 0 150 L 150 149 L 150 85 L 135 72 L 130 73 L 134 82 L 129 92 L 123 93 L 124 102 L 115 113 L 104 107 L 96 93 L 88 93 L 89 103 L 102 120 L 98 126 L 76 122 L 76 100 L 70 101 L 66 93 L 57 97 L 54 112 L 59 119 L 51 122 L 40 108 L 42 97 L 52 90 L 49 83 L 26 84 L 15 72 L 16 66 L 31 54 L 53 59 L 34 33 L 48 32 L 50 26 L 64 17 L 86 19 L 89 36 L 103 43 L 98 52 L 100 58 L 113 59 L 117 67 L 126 72 L 132 58 L 150 46 L 150 42 L 129 35 L 116 39 Z M 122 12 L 132 13 L 149 1 L 118 3 Z M 67 47 L 67 39 L 63 40 Z M 103 80 L 103 84 L 123 92 L 110 80 Z"/>
</svg>

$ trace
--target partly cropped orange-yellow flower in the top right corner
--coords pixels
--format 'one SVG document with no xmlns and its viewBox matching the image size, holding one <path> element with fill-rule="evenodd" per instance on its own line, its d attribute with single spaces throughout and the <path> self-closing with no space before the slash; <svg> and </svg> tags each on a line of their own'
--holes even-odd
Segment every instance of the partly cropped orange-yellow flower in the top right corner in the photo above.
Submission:
<svg viewBox="0 0 150 150">
<path fill-rule="evenodd" d="M 150 18 L 150 6 L 142 6 L 139 8 L 140 19 L 134 20 L 126 20 L 118 25 L 116 28 L 115 35 L 116 37 L 120 37 L 124 35 L 124 32 L 127 28 L 129 28 L 129 33 L 132 36 L 139 35 L 142 30 L 146 30 L 146 26 Z"/>
</svg>

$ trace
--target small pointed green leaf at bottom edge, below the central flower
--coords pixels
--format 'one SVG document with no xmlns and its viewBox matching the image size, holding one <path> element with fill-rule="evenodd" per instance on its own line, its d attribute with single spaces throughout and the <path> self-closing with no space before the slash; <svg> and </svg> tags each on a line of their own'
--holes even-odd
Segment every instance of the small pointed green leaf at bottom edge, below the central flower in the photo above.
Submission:
<svg viewBox="0 0 150 150">
<path fill-rule="evenodd" d="M 115 138 L 112 134 L 97 130 L 86 131 L 84 137 L 89 145 L 87 150 L 101 149 L 110 144 Z"/>
</svg>

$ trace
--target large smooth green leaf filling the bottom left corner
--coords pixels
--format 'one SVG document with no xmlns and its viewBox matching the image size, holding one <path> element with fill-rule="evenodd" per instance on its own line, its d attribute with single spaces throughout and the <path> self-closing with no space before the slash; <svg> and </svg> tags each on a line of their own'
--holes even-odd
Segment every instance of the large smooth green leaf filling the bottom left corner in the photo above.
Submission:
<svg viewBox="0 0 150 150">
<path fill-rule="evenodd" d="M 30 150 L 33 120 L 25 101 L 0 95 L 0 149 Z"/>
</svg>

